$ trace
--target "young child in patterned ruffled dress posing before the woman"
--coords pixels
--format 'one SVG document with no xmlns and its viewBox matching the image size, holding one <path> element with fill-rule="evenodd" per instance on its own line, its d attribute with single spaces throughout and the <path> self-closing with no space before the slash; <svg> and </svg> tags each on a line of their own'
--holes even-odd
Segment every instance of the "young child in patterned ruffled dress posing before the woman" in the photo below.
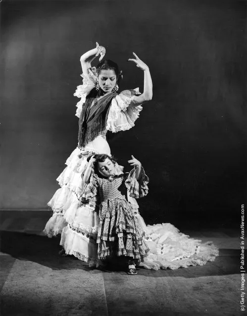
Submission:
<svg viewBox="0 0 247 316">
<path fill-rule="evenodd" d="M 148 177 L 140 161 L 132 156 L 128 162 L 134 169 L 124 174 L 112 157 L 92 156 L 82 175 L 84 189 L 80 199 L 86 202 L 96 198 L 99 205 L 98 258 L 124 256 L 128 262 L 127 273 L 133 275 L 137 274 L 134 262 L 143 261 L 148 246 L 128 195 L 134 198 L 147 195 Z"/>
</svg>

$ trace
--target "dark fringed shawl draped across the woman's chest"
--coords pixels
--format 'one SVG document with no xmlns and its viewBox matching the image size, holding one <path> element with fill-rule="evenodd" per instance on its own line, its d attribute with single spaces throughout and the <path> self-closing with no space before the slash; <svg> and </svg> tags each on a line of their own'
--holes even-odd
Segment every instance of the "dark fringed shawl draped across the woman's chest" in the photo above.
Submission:
<svg viewBox="0 0 247 316">
<path fill-rule="evenodd" d="M 117 95 L 117 93 L 107 93 L 98 101 L 96 99 L 97 95 L 98 91 L 95 88 L 91 90 L 89 95 L 86 97 L 85 104 L 82 107 L 79 119 L 79 147 L 86 146 L 90 141 L 93 141 L 105 130 L 111 100 Z M 96 100 L 96 102 L 91 107 L 94 100 Z"/>
</svg>

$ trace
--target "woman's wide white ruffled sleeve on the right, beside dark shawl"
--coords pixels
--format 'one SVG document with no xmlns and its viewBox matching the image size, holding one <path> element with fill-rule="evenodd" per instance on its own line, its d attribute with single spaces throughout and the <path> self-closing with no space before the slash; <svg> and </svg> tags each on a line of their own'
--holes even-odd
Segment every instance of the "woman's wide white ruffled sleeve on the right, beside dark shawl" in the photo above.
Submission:
<svg viewBox="0 0 247 316">
<path fill-rule="evenodd" d="M 124 90 L 111 101 L 111 106 L 106 122 L 106 129 L 113 133 L 127 131 L 135 126 L 135 121 L 139 117 L 143 107 L 135 104 L 135 95 L 141 94 L 139 88 L 134 90 Z"/>
</svg>

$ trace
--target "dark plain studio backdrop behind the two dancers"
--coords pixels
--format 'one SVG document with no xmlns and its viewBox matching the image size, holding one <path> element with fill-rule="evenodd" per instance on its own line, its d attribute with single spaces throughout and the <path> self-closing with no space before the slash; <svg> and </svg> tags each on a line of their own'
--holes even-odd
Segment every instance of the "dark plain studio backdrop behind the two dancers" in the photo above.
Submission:
<svg viewBox="0 0 247 316">
<path fill-rule="evenodd" d="M 77 145 L 80 56 L 96 41 L 153 99 L 136 126 L 110 135 L 120 164 L 133 154 L 150 178 L 148 224 L 238 216 L 246 193 L 246 2 L 14 1 L 1 6 L 1 209 L 46 209 Z M 95 61 L 95 65 L 97 61 Z"/>
</svg>

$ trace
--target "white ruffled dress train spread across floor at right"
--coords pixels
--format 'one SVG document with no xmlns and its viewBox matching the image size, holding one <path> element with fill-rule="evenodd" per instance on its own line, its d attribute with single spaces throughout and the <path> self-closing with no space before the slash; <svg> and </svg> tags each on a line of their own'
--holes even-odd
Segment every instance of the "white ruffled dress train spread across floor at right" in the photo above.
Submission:
<svg viewBox="0 0 247 316">
<path fill-rule="evenodd" d="M 169 223 L 148 225 L 146 238 L 150 253 L 140 264 L 146 269 L 202 266 L 218 256 L 218 249 L 212 242 L 201 244 L 201 240 L 190 238 Z"/>
</svg>

